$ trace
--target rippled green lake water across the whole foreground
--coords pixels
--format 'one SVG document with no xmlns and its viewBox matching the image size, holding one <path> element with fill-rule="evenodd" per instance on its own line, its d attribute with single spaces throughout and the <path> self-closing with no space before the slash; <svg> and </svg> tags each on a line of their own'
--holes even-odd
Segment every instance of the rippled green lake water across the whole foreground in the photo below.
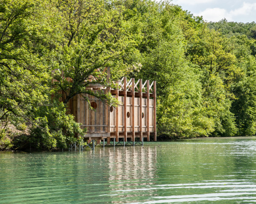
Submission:
<svg viewBox="0 0 256 204">
<path fill-rule="evenodd" d="M 256 137 L 0 153 L 0 203 L 256 203 Z"/>
</svg>

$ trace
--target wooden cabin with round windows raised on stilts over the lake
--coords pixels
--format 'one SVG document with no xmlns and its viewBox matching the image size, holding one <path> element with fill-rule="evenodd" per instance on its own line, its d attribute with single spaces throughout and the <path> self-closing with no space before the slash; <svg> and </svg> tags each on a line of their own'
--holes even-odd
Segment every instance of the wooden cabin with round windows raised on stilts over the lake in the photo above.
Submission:
<svg viewBox="0 0 256 204">
<path fill-rule="evenodd" d="M 106 69 L 109 78 L 110 69 Z M 96 78 L 90 76 L 89 80 L 96 81 Z M 87 88 L 93 92 L 110 92 L 120 103 L 116 108 L 88 94 L 77 95 L 68 103 L 70 113 L 75 116 L 77 122 L 81 123 L 81 128 L 87 128 L 85 139 L 107 138 L 107 143 L 111 138 L 115 138 L 117 142 L 119 138 L 123 138 L 124 142 L 127 138 L 131 141 L 135 141 L 135 138 L 139 138 L 139 141 L 147 138 L 149 141 L 150 135 L 153 135 L 156 141 L 156 81 L 150 84 L 149 80 L 142 82 L 139 79 L 136 82 L 134 78 L 128 81 L 123 77 L 119 82 L 110 83 L 115 84 L 117 89 L 100 84 L 92 84 Z M 88 97 L 94 110 L 89 107 L 84 97 Z"/>
</svg>

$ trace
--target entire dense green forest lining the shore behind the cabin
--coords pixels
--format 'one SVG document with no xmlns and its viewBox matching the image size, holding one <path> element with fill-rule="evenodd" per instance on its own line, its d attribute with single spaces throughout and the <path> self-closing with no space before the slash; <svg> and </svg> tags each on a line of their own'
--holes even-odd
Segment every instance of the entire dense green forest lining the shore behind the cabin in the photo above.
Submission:
<svg viewBox="0 0 256 204">
<path fill-rule="evenodd" d="M 255 54 L 255 22 L 207 23 L 171 1 L 0 0 L 0 150 L 79 140 L 66 104 L 104 67 L 157 81 L 158 137 L 255 135 Z"/>
</svg>

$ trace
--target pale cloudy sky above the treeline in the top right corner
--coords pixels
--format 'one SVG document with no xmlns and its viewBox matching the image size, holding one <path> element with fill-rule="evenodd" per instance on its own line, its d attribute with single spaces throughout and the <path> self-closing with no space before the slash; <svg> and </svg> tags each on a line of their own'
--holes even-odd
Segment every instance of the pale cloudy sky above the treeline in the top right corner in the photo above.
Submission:
<svg viewBox="0 0 256 204">
<path fill-rule="evenodd" d="M 256 0 L 173 0 L 172 3 L 194 16 L 202 16 L 207 22 L 223 18 L 244 23 L 256 22 Z"/>
</svg>

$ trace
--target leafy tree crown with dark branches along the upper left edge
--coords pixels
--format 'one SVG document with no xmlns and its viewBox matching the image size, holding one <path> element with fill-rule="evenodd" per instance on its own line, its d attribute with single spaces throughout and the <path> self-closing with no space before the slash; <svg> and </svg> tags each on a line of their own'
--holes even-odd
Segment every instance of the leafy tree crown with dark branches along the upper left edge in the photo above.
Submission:
<svg viewBox="0 0 256 204">
<path fill-rule="evenodd" d="M 28 121 L 28 113 L 43 104 L 47 74 L 36 52 L 42 27 L 35 1 L 1 0 L 0 2 L 0 120 Z M 39 10 L 39 8 L 38 8 Z M 32 37 L 33 36 L 33 37 Z M 34 44 L 34 46 L 32 46 Z"/>
</svg>

